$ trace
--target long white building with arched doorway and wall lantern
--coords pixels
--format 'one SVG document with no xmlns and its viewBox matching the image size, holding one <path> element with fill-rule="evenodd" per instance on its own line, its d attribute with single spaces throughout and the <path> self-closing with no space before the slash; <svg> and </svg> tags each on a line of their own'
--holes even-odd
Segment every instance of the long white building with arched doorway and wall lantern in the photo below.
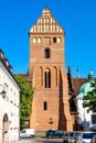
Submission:
<svg viewBox="0 0 96 143">
<path fill-rule="evenodd" d="M 12 143 L 19 140 L 19 107 L 20 87 L 8 59 L 0 50 L 0 143 Z"/>
</svg>

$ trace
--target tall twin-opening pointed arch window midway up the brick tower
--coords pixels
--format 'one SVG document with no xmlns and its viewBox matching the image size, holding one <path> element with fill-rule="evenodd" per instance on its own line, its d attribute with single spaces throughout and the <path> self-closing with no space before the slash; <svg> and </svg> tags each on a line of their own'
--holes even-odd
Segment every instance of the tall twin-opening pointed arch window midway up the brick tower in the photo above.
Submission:
<svg viewBox="0 0 96 143">
<path fill-rule="evenodd" d="M 45 88 L 51 88 L 51 72 L 49 69 L 44 73 L 44 82 Z"/>
</svg>

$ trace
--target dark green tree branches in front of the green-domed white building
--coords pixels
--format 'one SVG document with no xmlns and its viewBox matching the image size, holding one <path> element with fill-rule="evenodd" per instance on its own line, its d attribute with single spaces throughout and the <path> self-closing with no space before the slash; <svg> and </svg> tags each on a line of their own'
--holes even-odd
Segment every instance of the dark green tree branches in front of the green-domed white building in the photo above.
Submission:
<svg viewBox="0 0 96 143">
<path fill-rule="evenodd" d="M 93 90 L 84 96 L 83 107 L 88 108 L 87 112 L 96 112 L 96 82 L 92 82 L 90 86 L 93 87 Z"/>
</svg>

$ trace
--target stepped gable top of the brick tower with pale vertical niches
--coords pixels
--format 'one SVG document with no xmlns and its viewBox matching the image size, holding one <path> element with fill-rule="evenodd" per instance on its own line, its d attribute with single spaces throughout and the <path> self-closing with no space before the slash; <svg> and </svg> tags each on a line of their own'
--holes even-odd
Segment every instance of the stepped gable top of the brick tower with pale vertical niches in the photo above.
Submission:
<svg viewBox="0 0 96 143">
<path fill-rule="evenodd" d="M 64 33 L 63 28 L 56 22 L 55 18 L 51 14 L 51 10 L 45 8 L 42 15 L 38 19 L 30 33 Z"/>
</svg>

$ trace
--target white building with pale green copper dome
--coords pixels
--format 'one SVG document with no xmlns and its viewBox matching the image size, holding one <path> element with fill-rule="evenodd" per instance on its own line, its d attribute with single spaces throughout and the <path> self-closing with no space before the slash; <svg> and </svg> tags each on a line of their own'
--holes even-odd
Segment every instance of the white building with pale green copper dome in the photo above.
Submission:
<svg viewBox="0 0 96 143">
<path fill-rule="evenodd" d="M 79 124 L 83 125 L 84 130 L 89 129 L 94 124 L 92 123 L 92 114 L 93 112 L 87 112 L 88 108 L 83 108 L 83 101 L 84 96 L 86 96 L 89 91 L 94 89 L 94 87 L 90 86 L 94 81 L 94 75 L 93 72 L 89 72 L 88 74 L 88 81 L 85 82 L 78 90 L 77 97 L 76 97 L 76 105 L 77 105 L 77 112 L 79 118 Z"/>
</svg>

